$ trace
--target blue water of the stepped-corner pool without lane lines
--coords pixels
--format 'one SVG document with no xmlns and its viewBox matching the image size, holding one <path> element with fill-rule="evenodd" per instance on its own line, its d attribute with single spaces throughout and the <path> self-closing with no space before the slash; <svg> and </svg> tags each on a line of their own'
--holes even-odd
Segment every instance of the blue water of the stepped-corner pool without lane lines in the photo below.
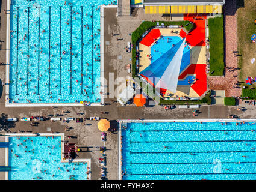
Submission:
<svg viewBox="0 0 256 192">
<path fill-rule="evenodd" d="M 71 179 L 75 180 L 87 179 L 87 163 L 61 163 L 60 136 L 9 137 L 9 142 L 10 180 L 69 180 L 70 175 L 74 175 Z"/>
</svg>

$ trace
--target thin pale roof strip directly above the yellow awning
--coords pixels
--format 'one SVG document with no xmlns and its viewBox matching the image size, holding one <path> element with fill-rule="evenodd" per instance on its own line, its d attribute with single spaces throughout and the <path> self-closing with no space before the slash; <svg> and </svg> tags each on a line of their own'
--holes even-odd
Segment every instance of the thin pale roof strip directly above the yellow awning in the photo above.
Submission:
<svg viewBox="0 0 256 192">
<path fill-rule="evenodd" d="M 225 0 L 144 0 L 145 4 L 224 4 Z"/>
</svg>

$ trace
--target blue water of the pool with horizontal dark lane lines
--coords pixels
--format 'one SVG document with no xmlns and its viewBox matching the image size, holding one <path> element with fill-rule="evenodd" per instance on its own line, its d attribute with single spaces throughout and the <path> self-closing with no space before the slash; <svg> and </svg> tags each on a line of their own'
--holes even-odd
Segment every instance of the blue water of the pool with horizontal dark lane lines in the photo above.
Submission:
<svg viewBox="0 0 256 192">
<path fill-rule="evenodd" d="M 122 129 L 123 179 L 256 179 L 252 122 L 130 123 L 127 127 Z"/>
</svg>

